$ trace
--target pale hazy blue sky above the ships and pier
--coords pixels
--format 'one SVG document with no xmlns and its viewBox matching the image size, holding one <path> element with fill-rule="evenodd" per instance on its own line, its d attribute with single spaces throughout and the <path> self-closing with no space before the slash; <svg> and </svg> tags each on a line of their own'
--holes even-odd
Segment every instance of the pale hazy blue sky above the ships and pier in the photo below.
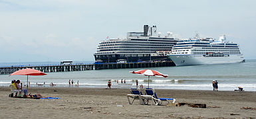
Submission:
<svg viewBox="0 0 256 119">
<path fill-rule="evenodd" d="M 256 59 L 254 0 L 0 0 L 0 62 L 94 61 L 98 43 L 142 32 L 144 24 L 177 38 L 239 43 Z"/>
</svg>

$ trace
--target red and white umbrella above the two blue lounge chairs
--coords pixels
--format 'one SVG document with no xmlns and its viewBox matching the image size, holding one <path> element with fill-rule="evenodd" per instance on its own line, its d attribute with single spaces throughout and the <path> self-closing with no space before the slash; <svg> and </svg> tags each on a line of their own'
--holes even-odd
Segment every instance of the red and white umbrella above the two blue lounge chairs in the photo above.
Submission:
<svg viewBox="0 0 256 119">
<path fill-rule="evenodd" d="M 162 74 L 158 71 L 152 70 L 152 69 L 142 69 L 142 70 L 138 70 L 138 71 L 130 71 L 130 73 L 136 73 L 136 74 L 148 76 L 148 88 L 150 87 L 150 76 L 168 77 L 168 75 L 164 75 L 164 74 Z"/>
</svg>

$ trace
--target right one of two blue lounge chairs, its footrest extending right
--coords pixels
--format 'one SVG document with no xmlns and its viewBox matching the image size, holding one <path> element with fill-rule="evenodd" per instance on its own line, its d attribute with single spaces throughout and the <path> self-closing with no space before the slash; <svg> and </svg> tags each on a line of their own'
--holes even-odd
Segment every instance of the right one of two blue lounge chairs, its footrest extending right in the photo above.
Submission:
<svg viewBox="0 0 256 119">
<path fill-rule="evenodd" d="M 156 91 L 154 89 L 151 88 L 146 88 L 146 95 L 142 95 L 141 97 L 147 100 L 152 100 L 152 104 L 155 105 L 161 105 L 163 101 L 167 101 L 168 104 L 170 103 L 170 100 L 172 100 L 172 103 L 174 103 L 176 101 L 176 99 L 168 99 L 168 98 L 158 98 L 158 96 L 156 95 Z"/>
</svg>

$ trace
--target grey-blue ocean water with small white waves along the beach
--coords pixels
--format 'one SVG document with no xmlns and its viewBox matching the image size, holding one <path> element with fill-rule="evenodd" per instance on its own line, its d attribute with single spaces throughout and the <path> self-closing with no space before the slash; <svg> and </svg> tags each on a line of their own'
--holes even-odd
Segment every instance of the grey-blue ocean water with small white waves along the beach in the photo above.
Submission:
<svg viewBox="0 0 256 119">
<path fill-rule="evenodd" d="M 19 63 L 17 63 L 19 64 Z M 23 64 L 23 63 L 22 63 Z M 27 63 L 35 64 L 35 63 Z M 40 62 L 38 64 L 47 64 Z M 0 65 L 10 65 L 3 64 Z M 256 60 L 247 60 L 245 63 L 215 64 L 215 65 L 188 65 L 179 67 L 152 67 L 169 77 L 150 77 L 150 87 L 155 89 L 189 89 L 189 90 L 213 90 L 212 81 L 219 82 L 219 91 L 233 91 L 237 87 L 243 87 L 245 91 L 256 91 Z M 73 71 L 47 73 L 44 76 L 29 76 L 31 87 L 39 87 L 36 84 L 43 84 L 40 87 L 50 87 L 54 83 L 55 87 L 97 87 L 106 88 L 108 80 L 112 81 L 112 88 L 135 88 L 136 80 L 139 85 L 148 87 L 148 77 L 129 73 L 140 69 L 102 69 L 92 71 Z M 11 80 L 21 80 L 27 83 L 27 76 L 24 75 L 0 75 L 0 86 L 7 87 Z M 121 79 L 126 80 L 126 84 L 120 83 Z M 74 85 L 69 85 L 68 80 L 74 80 Z M 116 83 L 116 80 L 119 83 Z"/>
</svg>

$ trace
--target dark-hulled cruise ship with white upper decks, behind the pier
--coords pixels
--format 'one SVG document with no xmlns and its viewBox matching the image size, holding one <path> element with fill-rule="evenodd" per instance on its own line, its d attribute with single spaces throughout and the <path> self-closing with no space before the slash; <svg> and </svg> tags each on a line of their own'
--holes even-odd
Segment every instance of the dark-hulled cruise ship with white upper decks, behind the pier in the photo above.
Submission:
<svg viewBox="0 0 256 119">
<path fill-rule="evenodd" d="M 108 39 L 99 43 L 94 54 L 95 61 L 136 62 L 136 61 L 170 61 L 170 54 L 178 38 L 167 32 L 167 36 L 157 32 L 156 26 L 144 25 L 144 32 L 128 32 L 127 38 Z"/>
</svg>

